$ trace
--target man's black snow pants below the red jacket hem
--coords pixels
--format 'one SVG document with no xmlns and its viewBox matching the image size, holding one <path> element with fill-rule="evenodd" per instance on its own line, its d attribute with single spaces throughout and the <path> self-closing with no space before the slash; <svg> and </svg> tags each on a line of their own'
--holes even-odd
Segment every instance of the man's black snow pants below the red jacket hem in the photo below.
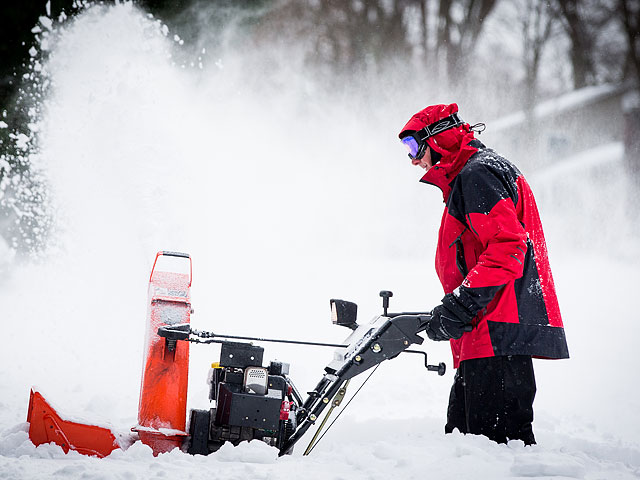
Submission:
<svg viewBox="0 0 640 480">
<path fill-rule="evenodd" d="M 445 433 L 484 435 L 498 443 L 533 445 L 536 380 L 530 356 L 465 360 L 453 380 Z"/>
</svg>

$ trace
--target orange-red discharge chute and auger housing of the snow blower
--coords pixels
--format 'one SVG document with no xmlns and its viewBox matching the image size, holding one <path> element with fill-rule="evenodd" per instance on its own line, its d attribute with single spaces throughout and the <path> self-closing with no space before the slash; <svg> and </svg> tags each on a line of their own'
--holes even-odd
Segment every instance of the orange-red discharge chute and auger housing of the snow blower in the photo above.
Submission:
<svg viewBox="0 0 640 480">
<path fill-rule="evenodd" d="M 163 326 L 190 323 L 191 272 L 188 254 L 165 251 L 156 254 L 149 278 L 138 425 L 132 431 L 154 455 L 180 447 L 187 437 L 189 343 L 165 340 L 157 332 Z M 71 449 L 98 457 L 120 448 L 108 428 L 63 420 L 34 390 L 27 421 L 29 438 L 35 445 L 55 442 L 65 453 Z"/>
</svg>

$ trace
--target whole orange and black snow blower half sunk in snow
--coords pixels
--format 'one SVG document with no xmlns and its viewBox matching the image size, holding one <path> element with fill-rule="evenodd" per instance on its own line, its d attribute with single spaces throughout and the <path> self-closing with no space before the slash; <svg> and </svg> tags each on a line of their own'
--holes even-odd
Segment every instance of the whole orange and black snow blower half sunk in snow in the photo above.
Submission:
<svg viewBox="0 0 640 480">
<path fill-rule="evenodd" d="M 174 265 L 170 269 L 161 268 L 159 259 L 160 263 L 170 260 Z M 363 325 L 356 322 L 355 303 L 332 299 L 333 323 L 351 329 L 352 333 L 341 344 L 329 344 L 192 329 L 190 288 L 191 257 L 185 253 L 158 252 L 149 279 L 138 425 L 131 429 L 142 443 L 151 447 L 154 455 L 176 447 L 191 454 L 208 455 L 225 442 L 237 445 L 256 439 L 277 448 L 279 455 L 290 454 L 329 406 L 304 452 L 307 455 L 322 438 L 319 435 L 329 415 L 342 403 L 351 378 L 400 353 L 423 355 L 428 370 L 439 375 L 445 373 L 444 363 L 429 365 L 426 352 L 408 349 L 423 342 L 418 333 L 424 330 L 430 314 L 389 313 L 389 298 L 393 296 L 389 291 L 380 292 L 383 314 Z M 264 367 L 264 349 L 253 342 L 334 347 L 335 353 L 316 387 L 304 399 L 289 378 L 289 364 L 272 361 Z M 208 379 L 213 407 L 191 410 L 187 427 L 189 343 L 220 344 L 220 360 L 212 364 Z M 35 445 L 54 442 L 65 453 L 75 450 L 98 457 L 126 448 L 125 442 L 119 442 L 108 428 L 61 418 L 33 389 L 27 421 L 29 438 Z"/>
</svg>

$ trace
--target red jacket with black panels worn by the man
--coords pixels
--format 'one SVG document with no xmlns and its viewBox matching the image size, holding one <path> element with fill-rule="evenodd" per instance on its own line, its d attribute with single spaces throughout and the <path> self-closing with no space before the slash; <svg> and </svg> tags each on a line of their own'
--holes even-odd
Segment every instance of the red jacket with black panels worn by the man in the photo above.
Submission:
<svg viewBox="0 0 640 480">
<path fill-rule="evenodd" d="M 475 314 L 473 330 L 451 340 L 454 366 L 498 355 L 568 358 L 542 224 L 527 181 L 474 139 L 468 124 L 428 143 L 443 154 L 421 180 L 439 187 L 446 204 L 436 272 L 445 293 L 457 289 Z"/>
</svg>

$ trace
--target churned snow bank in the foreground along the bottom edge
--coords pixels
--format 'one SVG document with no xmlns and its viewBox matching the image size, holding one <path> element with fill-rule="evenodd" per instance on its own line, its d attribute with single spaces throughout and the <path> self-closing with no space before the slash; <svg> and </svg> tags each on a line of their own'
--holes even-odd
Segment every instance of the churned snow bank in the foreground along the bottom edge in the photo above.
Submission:
<svg viewBox="0 0 640 480">
<path fill-rule="evenodd" d="M 107 459 L 65 455 L 60 447 L 34 447 L 26 424 L 0 438 L 0 466 L 8 478 L 155 478 L 214 476 L 244 478 L 418 479 L 432 478 L 637 478 L 640 452 L 606 442 L 568 436 L 539 436 L 545 446 L 522 442 L 497 445 L 457 432 L 444 436 L 434 420 L 411 423 L 345 420 L 334 439 L 311 456 L 277 459 L 275 450 L 258 441 L 224 445 L 215 455 L 191 457 L 178 450 L 153 457 L 141 443 L 115 451 Z M 337 438 L 340 436 L 340 438 Z M 635 470 L 635 471 L 634 471 Z"/>
</svg>

